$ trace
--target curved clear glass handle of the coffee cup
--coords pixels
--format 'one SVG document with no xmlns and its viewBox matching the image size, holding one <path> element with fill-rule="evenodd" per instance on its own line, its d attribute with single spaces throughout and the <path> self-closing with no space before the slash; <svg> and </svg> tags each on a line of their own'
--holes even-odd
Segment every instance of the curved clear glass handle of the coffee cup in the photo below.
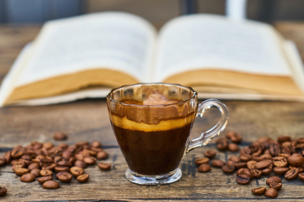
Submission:
<svg viewBox="0 0 304 202">
<path fill-rule="evenodd" d="M 187 149 L 185 150 L 185 154 L 191 150 L 194 150 L 195 148 L 206 146 L 210 140 L 218 136 L 219 133 L 225 129 L 228 123 L 229 112 L 226 105 L 217 99 L 207 99 L 206 101 L 199 104 L 196 117 L 203 117 L 204 112 L 211 107 L 216 107 L 219 109 L 219 111 L 222 113 L 221 119 L 211 129 L 202 133 L 201 136 L 189 141 L 186 147 Z"/>
</svg>

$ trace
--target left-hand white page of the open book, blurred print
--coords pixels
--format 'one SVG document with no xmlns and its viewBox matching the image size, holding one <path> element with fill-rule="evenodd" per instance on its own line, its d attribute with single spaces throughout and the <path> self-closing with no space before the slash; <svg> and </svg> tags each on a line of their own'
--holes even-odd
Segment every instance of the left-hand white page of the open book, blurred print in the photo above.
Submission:
<svg viewBox="0 0 304 202">
<path fill-rule="evenodd" d="M 32 57 L 16 86 L 98 68 L 119 70 L 144 81 L 155 35 L 148 22 L 121 12 L 50 21 L 33 43 Z"/>
</svg>

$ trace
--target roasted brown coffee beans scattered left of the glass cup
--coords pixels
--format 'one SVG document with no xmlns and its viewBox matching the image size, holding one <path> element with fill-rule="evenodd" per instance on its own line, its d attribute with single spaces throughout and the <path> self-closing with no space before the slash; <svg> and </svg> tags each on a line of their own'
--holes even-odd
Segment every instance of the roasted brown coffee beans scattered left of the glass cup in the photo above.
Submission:
<svg viewBox="0 0 304 202">
<path fill-rule="evenodd" d="M 64 133 L 56 133 L 57 139 L 64 140 Z M 63 138 L 63 139 L 62 139 Z M 71 182 L 75 177 L 78 182 L 86 182 L 89 175 L 85 173 L 88 165 L 95 165 L 97 160 L 106 159 L 108 154 L 101 148 L 98 141 L 78 142 L 75 145 L 60 143 L 54 146 L 53 143 L 32 142 L 28 146 L 16 146 L 7 151 L 3 158 L 0 158 L 0 166 L 11 164 L 12 170 L 20 176 L 22 182 L 31 182 L 37 178 L 44 189 L 57 189 L 61 182 Z M 111 164 L 99 162 L 101 170 L 109 170 Z M 5 187 L 0 187 L 0 196 L 7 192 Z"/>
</svg>

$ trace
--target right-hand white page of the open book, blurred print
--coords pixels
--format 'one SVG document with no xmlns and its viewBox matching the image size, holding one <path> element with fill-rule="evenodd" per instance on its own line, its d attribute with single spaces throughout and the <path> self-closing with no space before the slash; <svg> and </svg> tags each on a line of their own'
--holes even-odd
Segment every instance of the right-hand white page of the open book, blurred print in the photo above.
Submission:
<svg viewBox="0 0 304 202">
<path fill-rule="evenodd" d="M 163 81 L 203 68 L 289 76 L 281 43 L 274 29 L 264 23 L 204 14 L 179 17 L 160 31 L 154 76 Z"/>
</svg>

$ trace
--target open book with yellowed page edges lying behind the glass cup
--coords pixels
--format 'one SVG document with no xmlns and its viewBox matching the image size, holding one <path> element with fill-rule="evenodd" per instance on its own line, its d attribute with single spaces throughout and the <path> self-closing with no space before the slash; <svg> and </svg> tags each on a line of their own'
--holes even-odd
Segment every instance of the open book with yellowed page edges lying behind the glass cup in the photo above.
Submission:
<svg viewBox="0 0 304 202">
<path fill-rule="evenodd" d="M 157 33 L 144 19 L 104 12 L 47 22 L 2 82 L 0 105 L 88 97 L 138 82 L 191 86 L 200 98 L 304 101 L 295 45 L 270 25 L 195 14 Z"/>
</svg>

